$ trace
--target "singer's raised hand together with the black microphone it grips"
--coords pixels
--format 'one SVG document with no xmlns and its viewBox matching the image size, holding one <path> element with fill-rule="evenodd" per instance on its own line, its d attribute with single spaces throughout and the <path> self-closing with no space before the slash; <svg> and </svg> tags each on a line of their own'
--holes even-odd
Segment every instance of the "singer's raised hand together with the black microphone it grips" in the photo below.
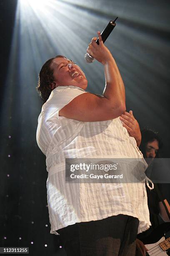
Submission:
<svg viewBox="0 0 170 256">
<path fill-rule="evenodd" d="M 117 18 L 115 20 L 117 20 Z M 87 61 L 87 63 L 92 63 L 98 57 L 99 57 L 99 59 L 97 59 L 98 61 L 100 61 L 101 63 L 105 62 L 104 59 L 101 59 L 102 56 L 100 58 L 100 56 L 98 56 L 98 54 L 99 54 L 99 51 L 100 51 L 101 55 L 104 54 L 103 51 L 109 51 L 107 49 L 107 47 L 104 46 L 104 42 L 106 41 L 107 37 L 112 32 L 113 28 L 115 28 L 115 26 L 116 26 L 115 20 L 114 21 L 111 20 L 107 24 L 106 28 L 102 31 L 101 34 L 100 34 L 99 31 L 97 32 L 98 33 L 98 39 L 97 38 L 92 38 L 92 42 L 89 44 L 89 46 L 87 48 L 87 54 L 85 54 L 85 60 Z M 109 51 L 109 53 L 110 53 L 110 51 Z"/>
</svg>

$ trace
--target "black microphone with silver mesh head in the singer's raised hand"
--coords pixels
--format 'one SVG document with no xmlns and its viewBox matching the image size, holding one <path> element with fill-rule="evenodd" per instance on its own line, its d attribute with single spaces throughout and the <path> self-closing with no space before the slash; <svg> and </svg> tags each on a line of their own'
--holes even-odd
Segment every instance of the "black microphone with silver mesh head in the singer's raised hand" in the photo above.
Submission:
<svg viewBox="0 0 170 256">
<path fill-rule="evenodd" d="M 117 20 L 117 18 L 114 21 L 110 20 L 107 26 L 105 27 L 105 29 L 102 31 L 101 36 L 102 36 L 103 43 L 106 41 L 107 37 L 110 35 L 113 28 L 115 28 L 116 26 L 115 21 Z M 99 38 L 97 38 L 96 43 L 99 45 Z M 95 61 L 95 58 L 93 58 L 90 54 L 87 53 L 85 54 L 85 60 L 87 63 L 92 63 L 93 61 Z"/>
</svg>

